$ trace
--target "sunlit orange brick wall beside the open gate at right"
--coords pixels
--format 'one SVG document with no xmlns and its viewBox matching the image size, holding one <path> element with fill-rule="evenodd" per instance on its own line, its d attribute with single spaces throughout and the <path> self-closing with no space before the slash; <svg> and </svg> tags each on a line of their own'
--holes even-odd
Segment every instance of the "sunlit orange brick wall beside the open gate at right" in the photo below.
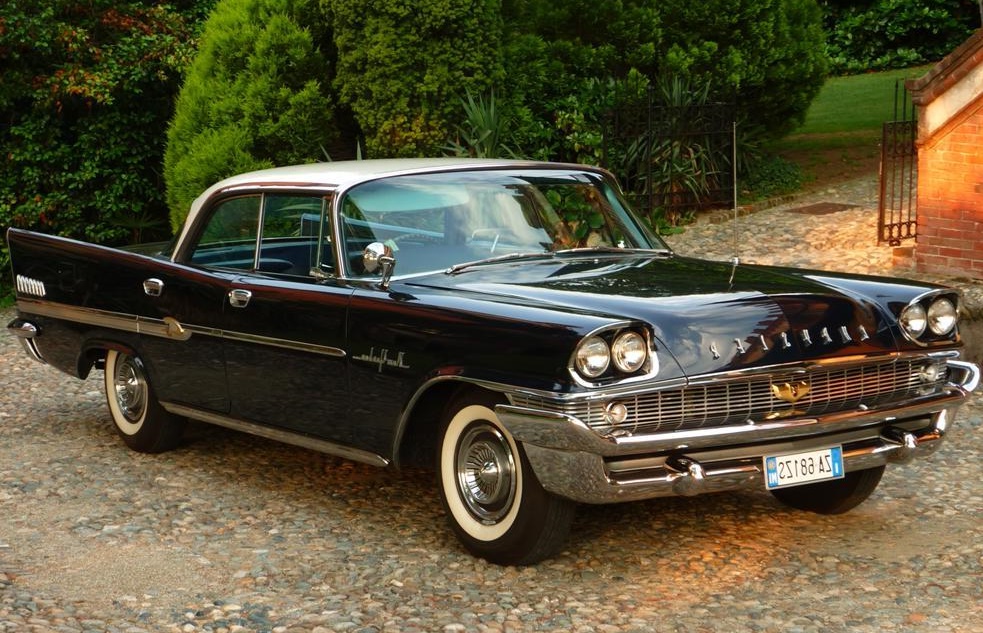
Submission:
<svg viewBox="0 0 983 633">
<path fill-rule="evenodd" d="M 915 265 L 983 278 L 983 98 L 919 148 Z"/>
</svg>

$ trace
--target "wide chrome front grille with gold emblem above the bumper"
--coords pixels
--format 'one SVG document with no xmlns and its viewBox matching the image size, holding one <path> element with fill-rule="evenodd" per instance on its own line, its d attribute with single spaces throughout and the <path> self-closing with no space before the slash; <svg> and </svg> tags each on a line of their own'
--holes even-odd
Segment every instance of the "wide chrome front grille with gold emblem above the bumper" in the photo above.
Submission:
<svg viewBox="0 0 983 633">
<path fill-rule="evenodd" d="M 659 433 L 712 428 L 762 421 L 789 415 L 810 416 L 902 402 L 916 395 L 937 391 L 945 379 L 944 364 L 934 382 L 925 382 L 922 368 L 936 361 L 926 359 L 892 360 L 849 367 L 777 372 L 752 377 L 708 381 L 635 393 L 609 400 L 570 403 L 533 396 L 513 396 L 517 406 L 546 409 L 580 419 L 595 431 L 607 434 L 615 429 L 605 418 L 605 407 L 616 400 L 628 407 L 629 417 L 617 427 L 620 433 Z M 795 403 L 779 399 L 773 386 L 808 387 L 808 393 Z"/>
</svg>

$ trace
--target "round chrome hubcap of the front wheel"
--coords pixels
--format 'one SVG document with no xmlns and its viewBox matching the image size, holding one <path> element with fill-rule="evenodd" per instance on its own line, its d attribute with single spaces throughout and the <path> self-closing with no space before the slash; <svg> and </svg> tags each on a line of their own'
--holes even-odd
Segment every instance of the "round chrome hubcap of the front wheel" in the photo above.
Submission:
<svg viewBox="0 0 983 633">
<path fill-rule="evenodd" d="M 508 514 L 515 500 L 515 461 L 501 431 L 487 423 L 473 426 L 457 456 L 458 491 L 468 511 L 488 524 Z"/>
</svg>

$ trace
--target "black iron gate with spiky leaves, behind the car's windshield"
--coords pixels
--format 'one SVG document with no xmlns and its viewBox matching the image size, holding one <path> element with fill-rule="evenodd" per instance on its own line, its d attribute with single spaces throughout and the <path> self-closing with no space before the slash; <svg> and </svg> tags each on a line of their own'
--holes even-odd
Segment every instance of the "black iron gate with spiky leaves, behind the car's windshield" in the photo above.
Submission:
<svg viewBox="0 0 983 633">
<path fill-rule="evenodd" d="M 603 165 L 633 208 L 675 224 L 698 209 L 733 205 L 734 107 L 662 105 L 653 90 L 619 100 L 605 119 Z"/>
</svg>

